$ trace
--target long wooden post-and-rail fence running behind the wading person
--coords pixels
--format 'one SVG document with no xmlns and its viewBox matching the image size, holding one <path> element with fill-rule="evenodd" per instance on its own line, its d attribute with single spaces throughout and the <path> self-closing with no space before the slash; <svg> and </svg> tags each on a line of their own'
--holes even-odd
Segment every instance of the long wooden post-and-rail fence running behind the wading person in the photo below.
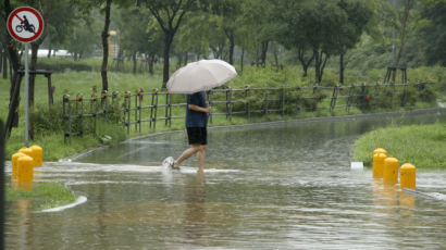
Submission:
<svg viewBox="0 0 446 250">
<path fill-rule="evenodd" d="M 207 91 L 207 101 L 212 107 L 209 122 L 214 116 L 225 115 L 232 120 L 234 115 L 245 116 L 248 120 L 252 115 L 262 114 L 293 114 L 299 112 L 314 112 L 329 110 L 332 114 L 335 110 L 345 109 L 350 113 L 352 107 L 367 110 L 372 107 L 393 109 L 396 105 L 404 107 L 407 101 L 409 87 L 419 89 L 424 83 L 409 84 L 373 84 L 350 86 L 308 86 L 294 88 L 225 88 Z M 110 100 L 111 99 L 111 100 Z M 134 92 L 126 91 L 124 95 L 113 92 L 110 98 L 107 91 L 100 97 L 92 95 L 84 98 L 77 95 L 75 98 L 63 97 L 64 141 L 73 136 L 82 136 L 85 127 L 96 133 L 98 116 L 113 114 L 127 133 L 131 127 L 141 132 L 143 124 L 148 123 L 149 128 L 156 128 L 157 122 L 164 122 L 171 126 L 173 120 L 184 118 L 186 107 L 185 95 L 171 95 L 153 89 L 144 92 L 141 89 Z M 182 110 L 179 110 L 182 109 Z M 85 121 L 89 123 L 84 124 Z"/>
</svg>

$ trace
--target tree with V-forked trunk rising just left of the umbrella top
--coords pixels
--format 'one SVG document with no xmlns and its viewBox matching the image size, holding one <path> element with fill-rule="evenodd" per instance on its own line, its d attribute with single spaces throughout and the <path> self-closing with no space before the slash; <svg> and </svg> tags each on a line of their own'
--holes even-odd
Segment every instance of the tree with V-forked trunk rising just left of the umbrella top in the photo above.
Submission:
<svg viewBox="0 0 446 250">
<path fill-rule="evenodd" d="M 197 0 L 146 0 L 145 2 L 164 33 L 162 88 L 165 88 L 169 80 L 170 53 L 174 36 L 185 14 L 196 8 Z"/>
</svg>

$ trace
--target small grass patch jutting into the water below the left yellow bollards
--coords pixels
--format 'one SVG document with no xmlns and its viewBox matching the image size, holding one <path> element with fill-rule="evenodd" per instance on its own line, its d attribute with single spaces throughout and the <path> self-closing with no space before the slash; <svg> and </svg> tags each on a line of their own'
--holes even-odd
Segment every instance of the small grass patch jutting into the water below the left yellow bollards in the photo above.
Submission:
<svg viewBox="0 0 446 250">
<path fill-rule="evenodd" d="M 29 200 L 34 210 L 46 210 L 65 205 L 76 200 L 76 196 L 58 183 L 34 183 L 33 191 L 7 187 L 7 201 Z"/>
</svg>

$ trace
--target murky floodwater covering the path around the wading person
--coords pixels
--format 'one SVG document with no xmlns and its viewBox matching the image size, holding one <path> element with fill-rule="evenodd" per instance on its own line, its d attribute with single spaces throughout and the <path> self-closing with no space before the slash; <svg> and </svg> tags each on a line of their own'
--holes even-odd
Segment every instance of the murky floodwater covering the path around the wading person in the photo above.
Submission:
<svg viewBox="0 0 446 250">
<path fill-rule="evenodd" d="M 160 166 L 184 133 L 45 163 L 88 201 L 54 213 L 7 207 L 7 249 L 442 249 L 446 200 L 401 192 L 351 171 L 363 133 L 446 121 L 445 112 L 288 122 L 209 132 L 205 172 Z M 395 154 L 397 154 L 395 152 Z M 445 171 L 418 171 L 417 190 L 446 195 Z"/>
</svg>

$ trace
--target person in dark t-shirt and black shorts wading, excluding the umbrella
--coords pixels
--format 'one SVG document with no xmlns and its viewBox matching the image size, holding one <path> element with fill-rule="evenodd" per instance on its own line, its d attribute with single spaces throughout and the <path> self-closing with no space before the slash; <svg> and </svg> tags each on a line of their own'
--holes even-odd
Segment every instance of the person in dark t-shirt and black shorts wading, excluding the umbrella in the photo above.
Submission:
<svg viewBox="0 0 446 250">
<path fill-rule="evenodd" d="M 205 91 L 187 95 L 186 129 L 190 148 L 186 149 L 176 160 L 172 157 L 166 158 L 163 165 L 179 170 L 183 161 L 197 153 L 198 168 L 203 168 L 208 143 L 208 114 L 210 112 L 211 107 L 206 104 Z"/>
</svg>

